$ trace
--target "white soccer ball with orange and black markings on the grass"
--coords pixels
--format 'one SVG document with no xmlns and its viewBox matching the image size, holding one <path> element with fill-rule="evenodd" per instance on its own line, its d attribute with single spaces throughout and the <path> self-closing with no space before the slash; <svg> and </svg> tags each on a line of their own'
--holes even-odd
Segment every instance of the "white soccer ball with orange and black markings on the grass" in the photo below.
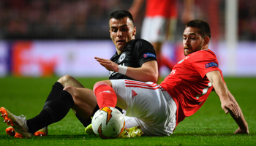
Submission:
<svg viewBox="0 0 256 146">
<path fill-rule="evenodd" d="M 114 107 L 103 107 L 91 120 L 94 133 L 102 139 L 115 139 L 124 131 L 124 115 Z"/>
</svg>

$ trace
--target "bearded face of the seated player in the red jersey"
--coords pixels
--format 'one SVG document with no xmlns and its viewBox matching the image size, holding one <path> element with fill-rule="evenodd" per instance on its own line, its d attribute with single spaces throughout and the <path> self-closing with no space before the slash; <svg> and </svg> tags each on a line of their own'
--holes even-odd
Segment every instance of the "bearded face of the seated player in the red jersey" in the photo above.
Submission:
<svg viewBox="0 0 256 146">
<path fill-rule="evenodd" d="M 204 39 L 199 34 L 199 28 L 187 27 L 183 33 L 184 55 L 203 49 Z"/>
</svg>

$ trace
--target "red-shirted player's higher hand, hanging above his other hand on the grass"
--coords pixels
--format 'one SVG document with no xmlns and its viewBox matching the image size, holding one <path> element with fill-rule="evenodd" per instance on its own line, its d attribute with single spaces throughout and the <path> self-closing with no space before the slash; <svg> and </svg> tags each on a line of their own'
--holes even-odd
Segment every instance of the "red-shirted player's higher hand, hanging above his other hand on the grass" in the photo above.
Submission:
<svg viewBox="0 0 256 146">
<path fill-rule="evenodd" d="M 233 115 L 235 115 L 236 118 L 240 116 L 238 106 L 233 101 L 230 101 L 228 99 L 225 101 L 222 101 L 222 109 L 225 111 L 226 114 L 230 110 L 230 112 L 233 112 Z"/>
</svg>

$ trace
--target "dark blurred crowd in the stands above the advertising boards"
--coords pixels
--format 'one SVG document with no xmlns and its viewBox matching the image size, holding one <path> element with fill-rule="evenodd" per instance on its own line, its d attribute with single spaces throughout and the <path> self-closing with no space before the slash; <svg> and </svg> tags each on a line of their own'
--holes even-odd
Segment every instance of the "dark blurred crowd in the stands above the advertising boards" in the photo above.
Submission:
<svg viewBox="0 0 256 146">
<path fill-rule="evenodd" d="M 1 0 L 0 39 L 109 39 L 108 15 L 131 4 L 132 0 Z M 255 7 L 255 0 L 238 0 L 239 40 L 256 41 Z M 143 9 L 135 21 L 137 38 Z M 195 18 L 208 21 L 213 37 L 223 39 L 225 0 L 195 0 Z M 178 25 L 176 33 L 183 29 Z"/>
</svg>

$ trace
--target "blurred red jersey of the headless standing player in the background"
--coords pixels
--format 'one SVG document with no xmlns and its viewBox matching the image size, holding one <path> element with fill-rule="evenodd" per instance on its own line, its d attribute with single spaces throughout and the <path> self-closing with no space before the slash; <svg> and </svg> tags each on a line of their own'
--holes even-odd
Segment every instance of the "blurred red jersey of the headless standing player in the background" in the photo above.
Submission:
<svg viewBox="0 0 256 146">
<path fill-rule="evenodd" d="M 177 0 L 147 0 L 145 15 L 148 17 L 162 16 L 164 18 L 177 18 Z"/>
</svg>

